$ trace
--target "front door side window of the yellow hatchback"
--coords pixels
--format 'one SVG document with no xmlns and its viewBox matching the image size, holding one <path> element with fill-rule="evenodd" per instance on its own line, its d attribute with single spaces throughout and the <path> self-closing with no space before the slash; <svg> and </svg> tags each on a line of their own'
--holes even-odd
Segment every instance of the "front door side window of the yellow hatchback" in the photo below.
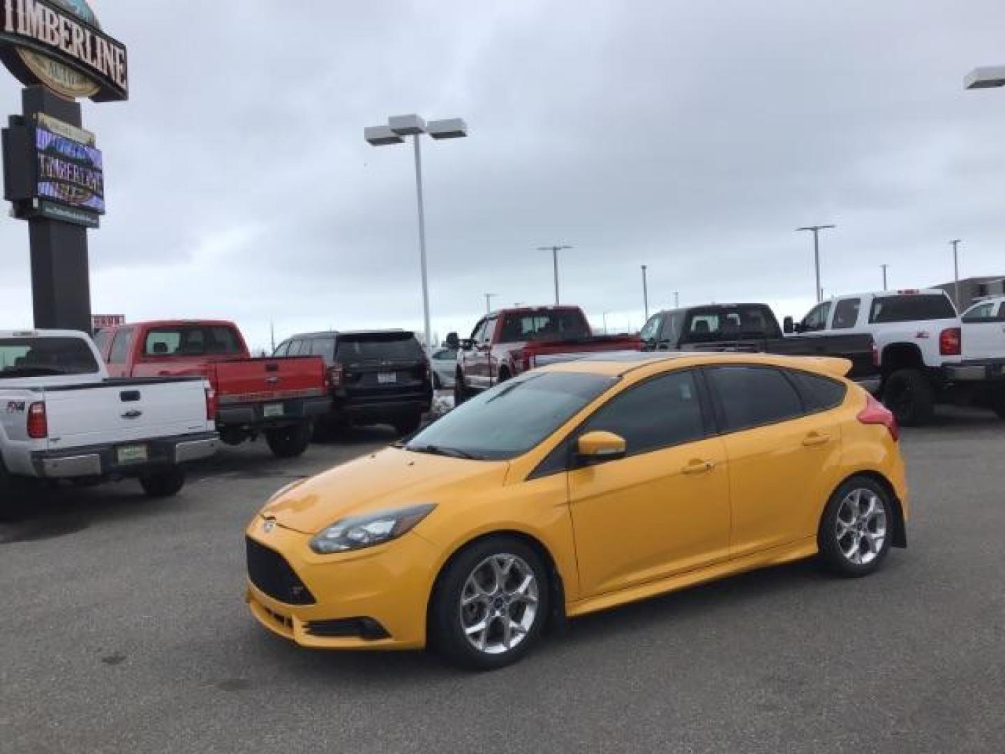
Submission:
<svg viewBox="0 0 1005 754">
<path fill-rule="evenodd" d="M 628 455 L 700 439 L 706 429 L 694 373 L 670 372 L 619 393 L 577 436 L 598 430 L 624 437 Z"/>
</svg>

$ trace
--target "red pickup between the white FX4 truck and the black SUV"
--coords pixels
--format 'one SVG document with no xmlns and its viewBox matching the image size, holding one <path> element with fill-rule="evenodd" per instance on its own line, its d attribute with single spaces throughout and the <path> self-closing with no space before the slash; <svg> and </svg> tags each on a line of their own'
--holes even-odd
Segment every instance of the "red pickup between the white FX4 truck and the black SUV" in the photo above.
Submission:
<svg viewBox="0 0 1005 754">
<path fill-rule="evenodd" d="M 297 456 L 311 443 L 315 417 L 332 406 L 321 357 L 252 359 L 230 322 L 140 322 L 102 330 L 94 341 L 112 378 L 209 379 L 227 444 L 263 434 L 277 457 Z"/>
</svg>

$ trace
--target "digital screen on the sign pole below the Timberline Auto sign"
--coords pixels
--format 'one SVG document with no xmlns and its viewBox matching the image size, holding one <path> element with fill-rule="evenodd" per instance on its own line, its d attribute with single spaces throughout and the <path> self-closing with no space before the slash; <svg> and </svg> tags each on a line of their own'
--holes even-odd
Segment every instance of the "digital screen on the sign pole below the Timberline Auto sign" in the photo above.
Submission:
<svg viewBox="0 0 1005 754">
<path fill-rule="evenodd" d="M 35 128 L 35 151 L 37 196 L 105 214 L 105 170 L 100 150 L 38 126 Z"/>
</svg>

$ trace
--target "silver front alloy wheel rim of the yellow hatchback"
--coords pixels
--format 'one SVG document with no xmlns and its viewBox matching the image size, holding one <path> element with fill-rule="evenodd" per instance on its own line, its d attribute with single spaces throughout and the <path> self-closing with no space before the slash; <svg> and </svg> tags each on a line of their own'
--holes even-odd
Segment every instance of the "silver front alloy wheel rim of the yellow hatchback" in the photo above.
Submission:
<svg viewBox="0 0 1005 754">
<path fill-rule="evenodd" d="M 485 654 L 502 654 L 520 645 L 534 626 L 538 579 L 523 558 L 491 555 L 468 575 L 459 607 L 468 643 Z"/>
</svg>

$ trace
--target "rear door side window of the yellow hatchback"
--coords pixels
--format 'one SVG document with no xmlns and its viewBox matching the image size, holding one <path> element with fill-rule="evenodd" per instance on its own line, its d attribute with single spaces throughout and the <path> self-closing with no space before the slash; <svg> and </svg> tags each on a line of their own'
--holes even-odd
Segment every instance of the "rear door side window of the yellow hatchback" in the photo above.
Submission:
<svg viewBox="0 0 1005 754">
<path fill-rule="evenodd" d="M 730 366 L 707 370 L 719 400 L 723 430 L 738 432 L 805 413 L 792 383 L 774 367 Z"/>
</svg>

